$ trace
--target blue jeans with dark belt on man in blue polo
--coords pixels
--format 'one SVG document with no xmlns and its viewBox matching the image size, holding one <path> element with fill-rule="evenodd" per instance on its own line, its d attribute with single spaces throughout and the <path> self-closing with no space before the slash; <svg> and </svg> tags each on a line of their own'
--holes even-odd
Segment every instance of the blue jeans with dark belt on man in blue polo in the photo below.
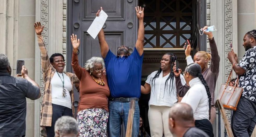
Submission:
<svg viewBox="0 0 256 137">
<path fill-rule="evenodd" d="M 109 101 L 108 109 L 108 137 L 119 137 L 121 124 L 124 122 L 125 130 L 127 128 L 130 102 Z M 139 104 L 135 101 L 133 115 L 132 137 L 139 135 Z"/>
</svg>

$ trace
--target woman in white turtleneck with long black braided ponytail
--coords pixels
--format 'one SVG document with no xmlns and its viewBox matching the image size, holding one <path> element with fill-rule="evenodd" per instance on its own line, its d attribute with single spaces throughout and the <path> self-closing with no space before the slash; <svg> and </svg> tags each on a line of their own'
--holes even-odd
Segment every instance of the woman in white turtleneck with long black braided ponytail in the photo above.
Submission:
<svg viewBox="0 0 256 137">
<path fill-rule="evenodd" d="M 210 89 L 203 78 L 202 70 L 199 64 L 189 64 L 184 73 L 186 83 L 190 88 L 184 95 L 181 102 L 189 104 L 193 109 L 195 126 L 200 128 L 210 137 L 213 135 L 211 119 L 211 93 Z M 179 69 L 179 74 L 181 69 Z"/>
</svg>

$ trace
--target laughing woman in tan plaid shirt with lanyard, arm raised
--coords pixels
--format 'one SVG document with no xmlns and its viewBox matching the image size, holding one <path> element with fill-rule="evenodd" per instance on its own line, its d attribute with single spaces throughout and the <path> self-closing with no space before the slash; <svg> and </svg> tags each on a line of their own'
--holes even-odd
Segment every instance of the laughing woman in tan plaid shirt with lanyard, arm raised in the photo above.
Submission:
<svg viewBox="0 0 256 137">
<path fill-rule="evenodd" d="M 55 53 L 50 58 L 48 57 L 41 35 L 44 26 L 37 22 L 34 27 L 41 52 L 44 78 L 40 126 L 42 127 L 42 135 L 45 135 L 46 131 L 48 137 L 54 137 L 56 120 L 63 115 L 74 116 L 73 84 L 79 83 L 79 79 L 73 73 L 63 72 L 65 60 L 62 54 Z"/>
</svg>

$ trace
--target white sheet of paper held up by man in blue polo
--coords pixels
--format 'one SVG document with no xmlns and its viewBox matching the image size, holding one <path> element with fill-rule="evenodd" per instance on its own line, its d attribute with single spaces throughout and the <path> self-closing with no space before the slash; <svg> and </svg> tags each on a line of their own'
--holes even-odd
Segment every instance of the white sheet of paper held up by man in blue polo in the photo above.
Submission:
<svg viewBox="0 0 256 137">
<path fill-rule="evenodd" d="M 92 36 L 92 38 L 95 39 L 97 37 L 107 18 L 107 13 L 101 10 L 100 15 L 93 20 L 91 26 L 87 30 L 87 32 Z"/>
</svg>

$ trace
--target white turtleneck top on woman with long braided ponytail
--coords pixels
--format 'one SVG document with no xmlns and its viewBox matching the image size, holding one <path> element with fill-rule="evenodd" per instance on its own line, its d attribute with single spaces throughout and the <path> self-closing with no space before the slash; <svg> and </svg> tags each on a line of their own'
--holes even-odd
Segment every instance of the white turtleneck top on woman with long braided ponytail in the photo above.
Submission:
<svg viewBox="0 0 256 137">
<path fill-rule="evenodd" d="M 190 80 L 189 85 L 190 88 L 181 102 L 192 107 L 195 120 L 209 119 L 209 99 L 205 86 L 198 77 Z"/>
</svg>

